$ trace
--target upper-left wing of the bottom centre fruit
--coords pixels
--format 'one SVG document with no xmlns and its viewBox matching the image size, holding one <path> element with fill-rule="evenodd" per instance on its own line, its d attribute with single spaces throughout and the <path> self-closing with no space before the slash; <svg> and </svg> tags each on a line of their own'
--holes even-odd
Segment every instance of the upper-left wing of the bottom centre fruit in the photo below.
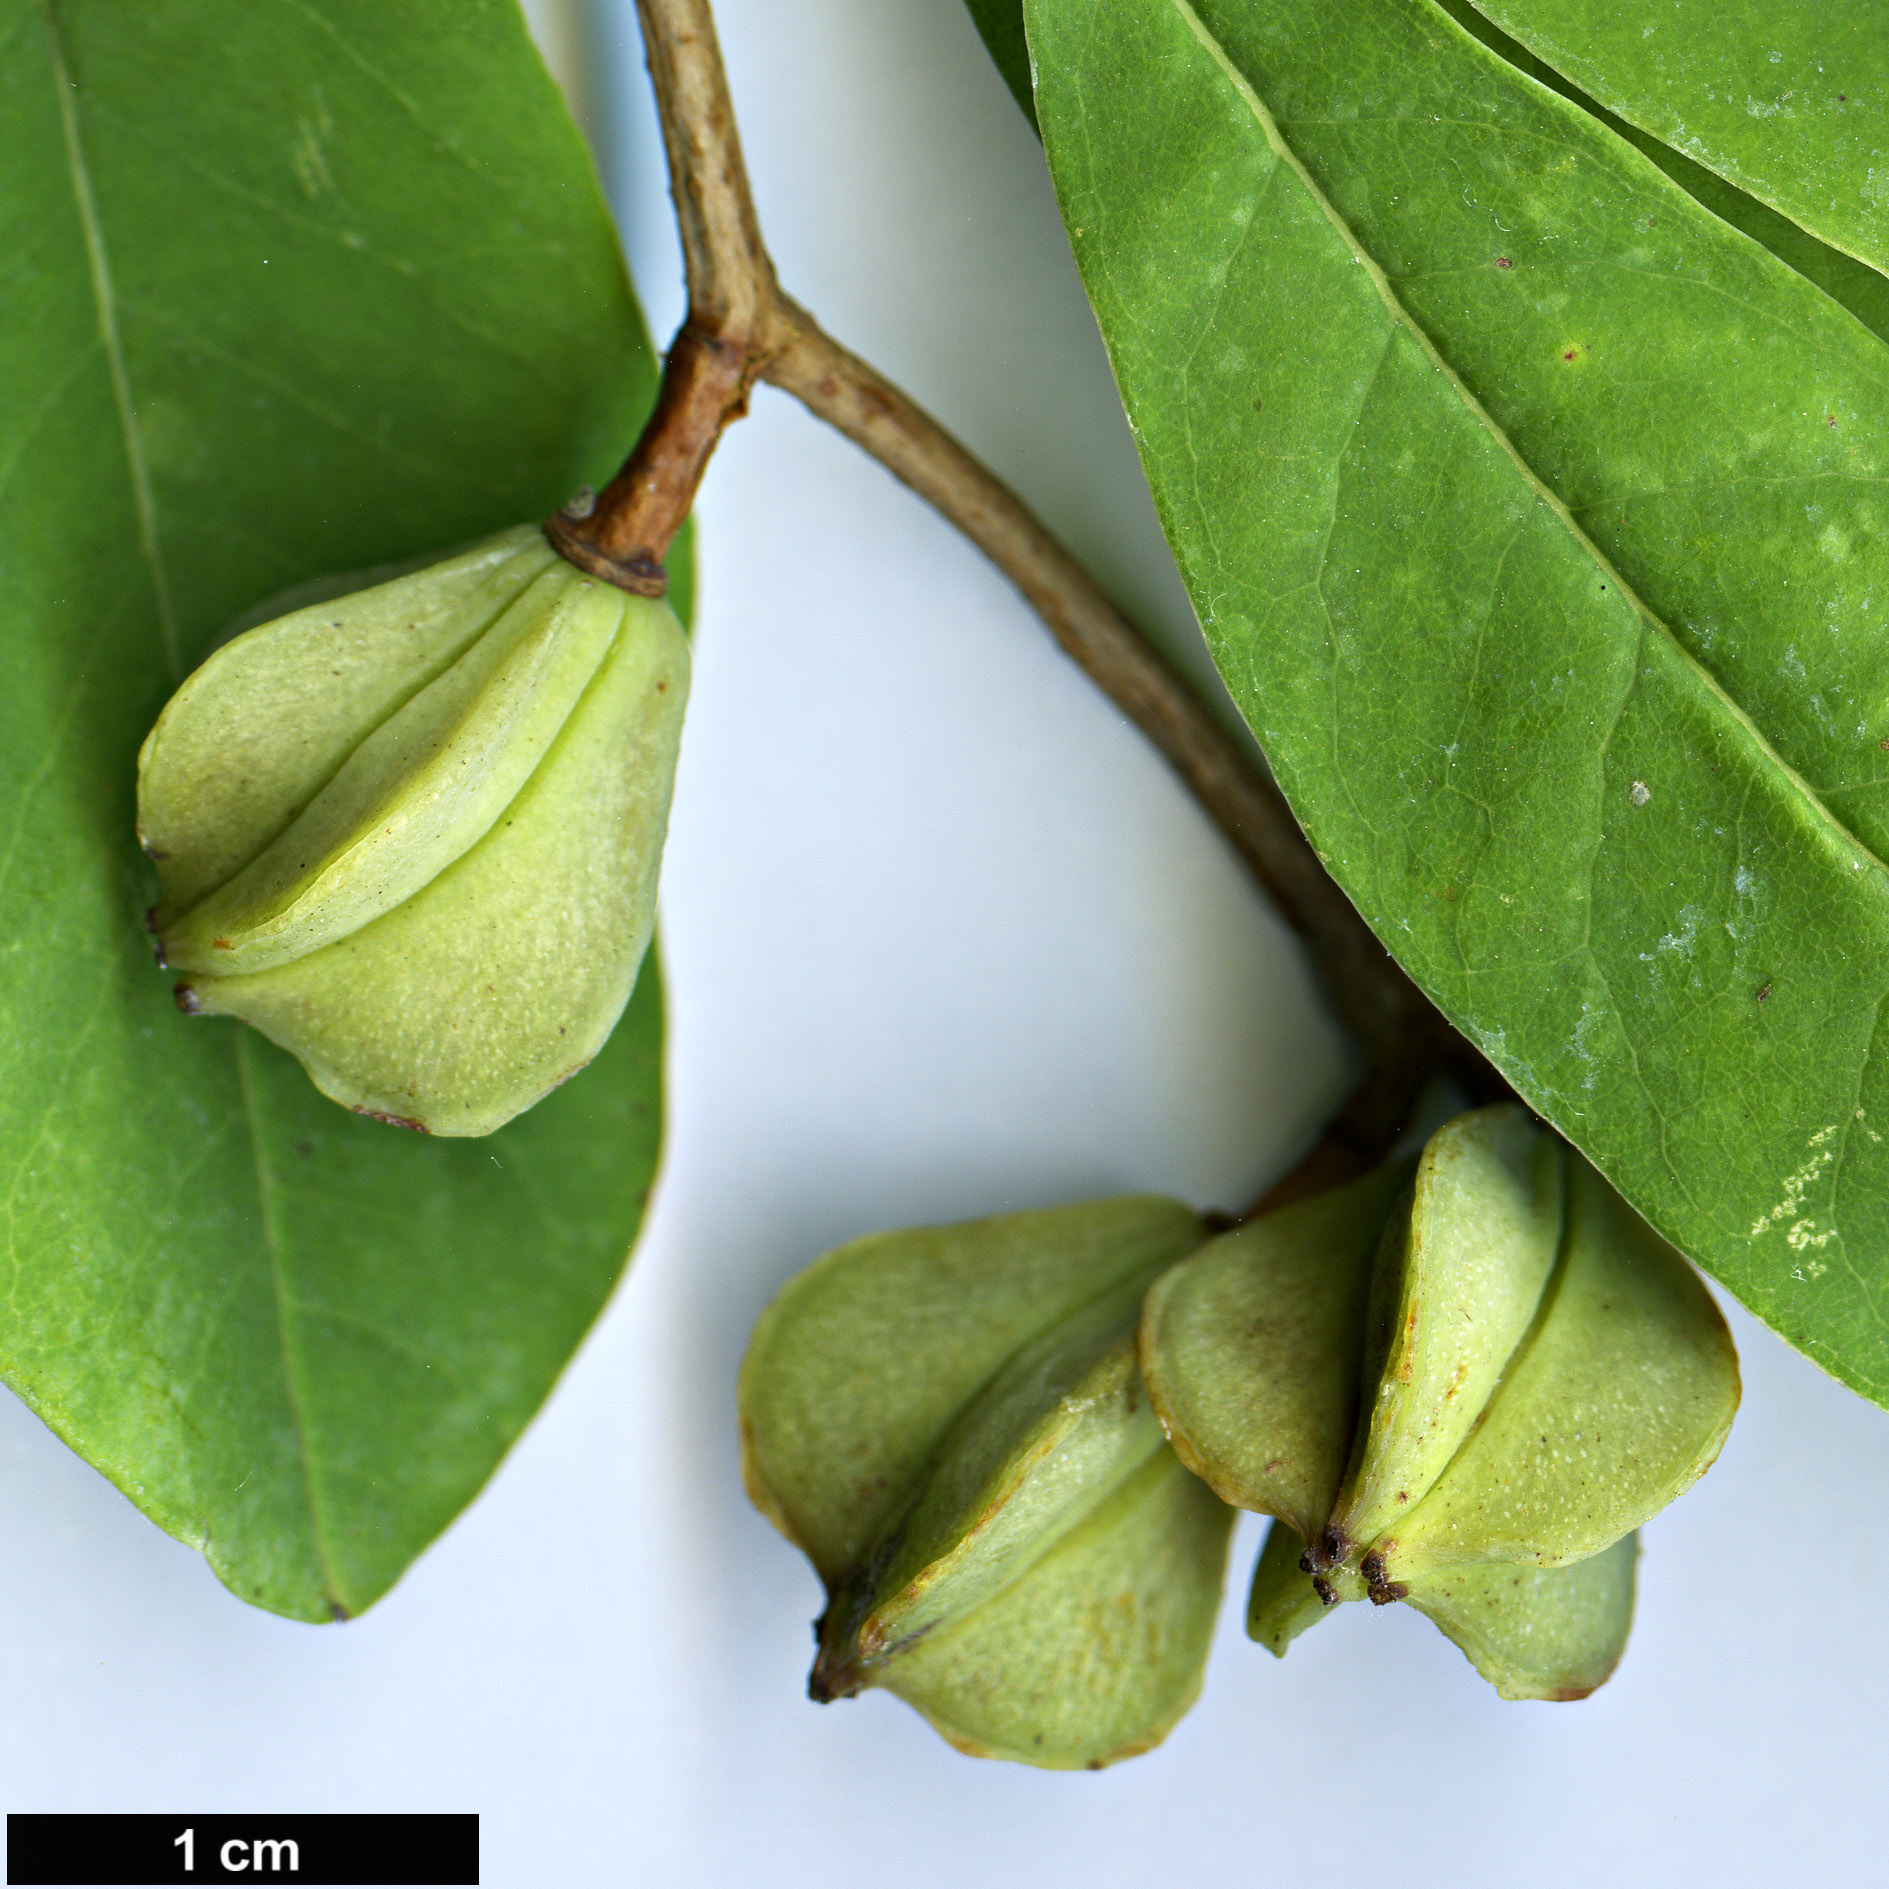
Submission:
<svg viewBox="0 0 1889 1889">
<path fill-rule="evenodd" d="M 1205 1237 L 1181 1201 L 1130 1194 L 835 1249 L 782 1288 L 748 1343 L 737 1405 L 750 1496 L 837 1587 L 1016 1353 Z"/>
</svg>

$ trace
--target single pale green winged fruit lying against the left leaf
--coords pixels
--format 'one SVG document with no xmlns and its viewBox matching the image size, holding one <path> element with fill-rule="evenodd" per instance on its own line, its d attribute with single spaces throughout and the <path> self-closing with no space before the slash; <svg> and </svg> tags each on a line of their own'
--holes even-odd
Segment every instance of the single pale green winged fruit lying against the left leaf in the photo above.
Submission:
<svg viewBox="0 0 1889 1889">
<path fill-rule="evenodd" d="M 138 757 L 185 1011 L 484 1135 L 608 1037 L 655 918 L 689 654 L 518 527 L 219 648 Z"/>
</svg>

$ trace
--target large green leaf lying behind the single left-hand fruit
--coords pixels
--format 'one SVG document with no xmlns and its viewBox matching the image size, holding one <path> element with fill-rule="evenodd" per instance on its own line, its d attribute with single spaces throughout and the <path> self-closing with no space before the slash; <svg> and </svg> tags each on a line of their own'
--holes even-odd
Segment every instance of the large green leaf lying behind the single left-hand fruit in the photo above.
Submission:
<svg viewBox="0 0 1889 1889">
<path fill-rule="evenodd" d="M 0 9 L 8 1383 L 246 1600 L 382 1594 L 616 1281 L 654 962 L 482 1143 L 323 1101 L 151 965 L 138 742 L 264 593 L 542 516 L 652 363 L 516 8 Z"/>
</svg>

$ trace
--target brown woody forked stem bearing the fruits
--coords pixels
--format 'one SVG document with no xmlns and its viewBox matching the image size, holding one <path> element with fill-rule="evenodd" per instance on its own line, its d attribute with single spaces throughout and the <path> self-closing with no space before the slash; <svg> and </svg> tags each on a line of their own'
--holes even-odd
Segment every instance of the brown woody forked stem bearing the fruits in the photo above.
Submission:
<svg viewBox="0 0 1889 1889">
<path fill-rule="evenodd" d="M 748 410 L 756 380 L 786 389 L 927 499 L 1016 584 L 1064 650 L 1160 748 L 1311 946 L 1370 1073 L 1262 1205 L 1337 1184 L 1381 1160 L 1432 1075 L 1456 1077 L 1477 1099 L 1504 1094 L 1494 1069 L 1377 943 L 1249 748 L 1016 493 L 782 293 L 754 213 L 708 0 L 637 0 L 637 11 L 669 151 L 689 314 L 623 470 L 587 508 L 548 519 L 557 550 L 612 584 L 661 595 L 661 557 L 722 429 Z"/>
</svg>

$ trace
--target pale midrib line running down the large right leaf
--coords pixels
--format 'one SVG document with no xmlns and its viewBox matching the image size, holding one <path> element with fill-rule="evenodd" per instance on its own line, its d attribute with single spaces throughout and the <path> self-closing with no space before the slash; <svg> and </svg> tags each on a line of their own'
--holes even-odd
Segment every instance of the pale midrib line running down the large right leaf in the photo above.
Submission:
<svg viewBox="0 0 1889 1889">
<path fill-rule="evenodd" d="M 1679 663 L 1698 680 L 1700 688 L 1725 710 L 1744 737 L 1757 750 L 1759 757 L 1778 771 L 1778 774 L 1793 788 L 1798 799 L 1812 810 L 1815 820 L 1819 820 L 1829 833 L 1849 848 L 1851 856 L 1863 859 L 1874 873 L 1878 873 L 1885 884 L 1889 884 L 1889 865 L 1878 854 L 1866 846 L 1836 814 L 1825 805 L 1817 790 L 1772 746 L 1764 731 L 1753 722 L 1747 710 L 1738 703 L 1738 699 L 1725 688 L 1719 678 L 1706 669 L 1704 663 L 1672 633 L 1672 629 L 1645 604 L 1640 593 L 1621 576 L 1621 572 L 1608 559 L 1606 552 L 1581 529 L 1575 516 L 1568 510 L 1566 502 L 1551 485 L 1547 485 L 1541 476 L 1528 465 L 1509 434 L 1496 423 L 1494 416 L 1483 406 L 1483 402 L 1470 391 L 1462 376 L 1451 366 L 1436 342 L 1428 336 L 1422 325 L 1411 315 L 1411 312 L 1398 298 L 1396 289 L 1390 285 L 1390 278 L 1379 266 L 1377 259 L 1364 247 L 1351 225 L 1339 215 L 1337 206 L 1319 189 L 1317 179 L 1307 170 L 1305 162 L 1300 159 L 1298 151 L 1292 149 L 1290 142 L 1279 128 L 1279 121 L 1266 108 L 1266 102 L 1252 89 L 1247 76 L 1234 64 L 1226 47 L 1209 32 L 1205 21 L 1194 11 L 1190 0 L 1167 0 L 1173 11 L 1179 15 L 1183 25 L 1194 34 L 1201 49 L 1209 59 L 1220 68 L 1228 83 L 1234 87 L 1241 104 L 1252 113 L 1254 123 L 1266 136 L 1268 145 L 1273 155 L 1283 162 L 1292 176 L 1300 181 L 1302 189 L 1307 193 L 1311 202 L 1319 208 L 1320 215 L 1332 225 L 1337 236 L 1349 247 L 1353 261 L 1364 270 L 1371 287 L 1375 289 L 1385 310 L 1422 349 L 1424 359 L 1445 378 L 1451 391 L 1468 408 L 1477 425 L 1489 434 L 1490 440 L 1504 451 L 1515 470 L 1521 474 L 1528 491 L 1536 501 L 1549 508 L 1560 527 L 1581 546 L 1587 557 L 1592 561 L 1596 570 L 1604 572 L 1611 584 L 1619 587 L 1621 597 L 1630 604 L 1634 614 L 1640 618 L 1643 629 L 1655 631 L 1664 648 L 1679 659 Z M 1492 57 L 1492 55 L 1490 55 Z M 1785 264 L 1787 266 L 1787 264 Z M 1638 667 L 1638 665 L 1636 665 Z"/>
</svg>

